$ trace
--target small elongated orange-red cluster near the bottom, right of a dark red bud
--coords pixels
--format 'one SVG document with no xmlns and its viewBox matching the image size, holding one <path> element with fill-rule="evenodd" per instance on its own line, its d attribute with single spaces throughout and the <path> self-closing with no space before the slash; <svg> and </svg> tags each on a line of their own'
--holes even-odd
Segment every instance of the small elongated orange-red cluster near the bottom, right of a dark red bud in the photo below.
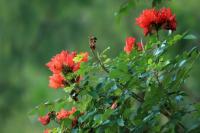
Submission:
<svg viewBox="0 0 200 133">
<path fill-rule="evenodd" d="M 56 114 L 56 118 L 57 118 L 57 120 L 63 120 L 63 119 L 68 118 L 70 115 L 74 114 L 75 112 L 76 112 L 76 108 L 75 107 L 73 107 L 69 111 L 62 109 L 60 112 L 58 112 Z"/>
</svg>

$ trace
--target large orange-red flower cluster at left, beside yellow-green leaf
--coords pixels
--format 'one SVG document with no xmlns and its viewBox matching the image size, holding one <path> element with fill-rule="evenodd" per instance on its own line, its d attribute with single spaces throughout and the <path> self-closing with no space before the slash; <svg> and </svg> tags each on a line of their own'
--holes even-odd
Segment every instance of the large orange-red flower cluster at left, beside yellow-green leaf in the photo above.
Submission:
<svg viewBox="0 0 200 133">
<path fill-rule="evenodd" d="M 78 58 L 77 60 L 74 60 Z M 80 53 L 76 52 L 68 52 L 62 51 L 61 53 L 54 56 L 50 62 L 46 65 L 53 73 L 52 76 L 49 77 L 49 86 L 51 88 L 61 88 L 69 85 L 69 82 L 78 82 L 80 77 L 74 77 L 72 81 L 67 81 L 66 76 L 69 73 L 75 72 L 80 68 L 80 64 L 82 62 L 88 61 L 88 53 Z"/>
</svg>

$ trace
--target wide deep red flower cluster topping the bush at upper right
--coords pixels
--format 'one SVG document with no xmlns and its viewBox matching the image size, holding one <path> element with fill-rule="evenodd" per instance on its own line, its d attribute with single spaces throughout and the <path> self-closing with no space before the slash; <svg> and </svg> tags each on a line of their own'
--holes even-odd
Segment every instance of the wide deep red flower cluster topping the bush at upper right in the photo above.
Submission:
<svg viewBox="0 0 200 133">
<path fill-rule="evenodd" d="M 170 8 L 146 9 L 136 18 L 136 24 L 144 30 L 144 35 L 157 32 L 160 28 L 165 30 L 176 30 L 176 16 Z"/>
</svg>

